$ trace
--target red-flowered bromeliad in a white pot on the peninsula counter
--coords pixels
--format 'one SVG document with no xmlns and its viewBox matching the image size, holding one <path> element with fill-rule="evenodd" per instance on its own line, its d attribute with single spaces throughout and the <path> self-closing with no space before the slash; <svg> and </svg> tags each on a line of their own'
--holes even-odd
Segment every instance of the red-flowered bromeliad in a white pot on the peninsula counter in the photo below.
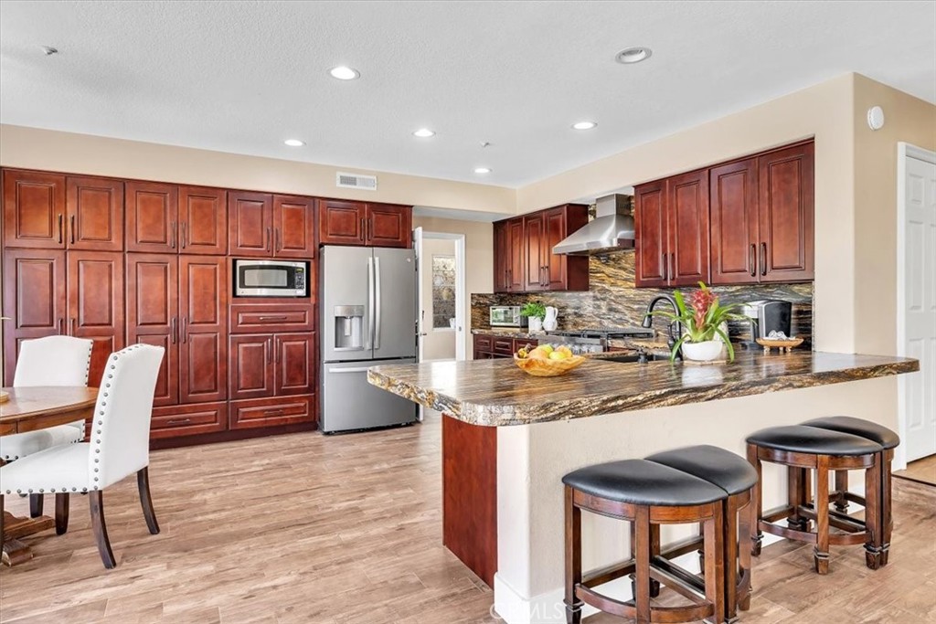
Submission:
<svg viewBox="0 0 936 624">
<path fill-rule="evenodd" d="M 728 352 L 728 359 L 734 361 L 735 350 L 728 339 L 727 321 L 747 320 L 746 316 L 733 312 L 739 303 L 722 305 L 718 297 L 705 283 L 699 282 L 699 289 L 689 295 L 688 305 L 680 291 L 673 293 L 677 312 L 660 310 L 651 312 L 661 315 L 671 322 L 679 322 L 683 329 L 680 340 L 673 345 L 670 361 L 682 356 L 688 360 L 710 362 L 722 355 L 722 348 Z"/>
</svg>

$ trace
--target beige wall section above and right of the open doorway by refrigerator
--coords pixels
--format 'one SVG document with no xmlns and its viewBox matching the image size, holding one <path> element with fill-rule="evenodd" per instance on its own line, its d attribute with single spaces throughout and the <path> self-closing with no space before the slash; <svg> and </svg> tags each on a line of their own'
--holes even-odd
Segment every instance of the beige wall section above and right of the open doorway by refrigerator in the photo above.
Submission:
<svg viewBox="0 0 936 624">
<path fill-rule="evenodd" d="M 471 296 L 472 293 L 490 293 L 494 289 L 494 228 L 487 223 L 438 217 L 413 217 L 413 227 L 422 227 L 427 232 L 463 234 L 465 237 L 465 353 L 471 357 Z"/>
</svg>

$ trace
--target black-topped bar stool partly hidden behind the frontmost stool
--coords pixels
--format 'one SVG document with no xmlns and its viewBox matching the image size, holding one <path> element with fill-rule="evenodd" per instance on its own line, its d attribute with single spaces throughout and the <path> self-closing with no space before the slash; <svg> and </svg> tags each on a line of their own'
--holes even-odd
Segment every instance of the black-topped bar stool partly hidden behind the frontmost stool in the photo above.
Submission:
<svg viewBox="0 0 936 624">
<path fill-rule="evenodd" d="M 743 457 L 717 446 L 702 444 L 673 449 L 646 457 L 678 471 L 705 479 L 728 494 L 724 500 L 724 609 L 725 621 L 751 606 L 751 535 L 753 488 L 757 471 Z M 701 542 L 701 535 L 696 544 Z"/>
</svg>

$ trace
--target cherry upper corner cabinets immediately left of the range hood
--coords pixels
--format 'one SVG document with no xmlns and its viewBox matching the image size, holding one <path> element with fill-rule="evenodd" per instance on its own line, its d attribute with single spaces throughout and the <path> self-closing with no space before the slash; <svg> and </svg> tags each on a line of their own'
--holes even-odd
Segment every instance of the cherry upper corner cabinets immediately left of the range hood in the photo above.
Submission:
<svg viewBox="0 0 936 624">
<path fill-rule="evenodd" d="M 588 207 L 566 204 L 494 224 L 494 292 L 588 290 L 588 257 L 552 248 L 588 223 Z"/>
</svg>

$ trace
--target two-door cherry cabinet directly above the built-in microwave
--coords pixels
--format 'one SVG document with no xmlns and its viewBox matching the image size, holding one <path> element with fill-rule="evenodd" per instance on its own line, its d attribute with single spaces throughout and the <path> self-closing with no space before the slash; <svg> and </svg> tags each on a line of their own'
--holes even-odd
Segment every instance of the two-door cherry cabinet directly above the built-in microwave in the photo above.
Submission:
<svg viewBox="0 0 936 624">
<path fill-rule="evenodd" d="M 230 192 L 227 205 L 231 255 L 314 256 L 315 203 L 311 197 Z"/>
</svg>

